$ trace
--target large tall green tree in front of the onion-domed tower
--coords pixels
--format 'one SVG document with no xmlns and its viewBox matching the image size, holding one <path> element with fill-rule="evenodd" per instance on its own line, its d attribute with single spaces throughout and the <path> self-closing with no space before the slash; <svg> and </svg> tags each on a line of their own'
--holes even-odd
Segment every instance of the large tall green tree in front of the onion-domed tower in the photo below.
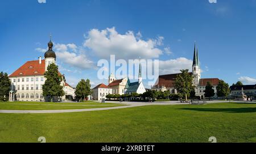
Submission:
<svg viewBox="0 0 256 154">
<path fill-rule="evenodd" d="M 65 95 L 61 82 L 63 77 L 59 74 L 58 66 L 55 63 L 51 63 L 47 67 L 47 71 L 44 73 L 46 82 L 43 85 L 43 96 L 49 98 L 51 101 L 53 97 L 61 97 Z"/>
</svg>

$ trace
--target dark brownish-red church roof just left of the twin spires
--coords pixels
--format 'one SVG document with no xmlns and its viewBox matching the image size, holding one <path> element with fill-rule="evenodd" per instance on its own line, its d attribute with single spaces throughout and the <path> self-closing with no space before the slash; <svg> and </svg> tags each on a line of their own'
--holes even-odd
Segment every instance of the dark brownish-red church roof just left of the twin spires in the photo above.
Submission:
<svg viewBox="0 0 256 154">
<path fill-rule="evenodd" d="M 175 87 L 175 79 L 178 74 L 167 74 L 167 75 L 159 75 L 158 82 L 156 82 L 156 86 L 164 86 L 164 87 Z M 192 75 L 192 72 L 189 72 Z"/>
</svg>

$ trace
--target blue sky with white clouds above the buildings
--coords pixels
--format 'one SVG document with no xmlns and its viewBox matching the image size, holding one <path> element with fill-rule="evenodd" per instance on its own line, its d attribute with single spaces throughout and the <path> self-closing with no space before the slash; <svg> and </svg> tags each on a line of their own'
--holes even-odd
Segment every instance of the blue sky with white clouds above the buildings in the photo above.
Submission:
<svg viewBox="0 0 256 154">
<path fill-rule="evenodd" d="M 49 33 L 60 71 L 72 85 L 81 78 L 92 86 L 107 83 L 97 78 L 96 65 L 111 53 L 159 59 L 160 74 L 191 69 L 194 41 L 202 78 L 256 84 L 255 0 L 1 1 L 0 71 L 11 74 L 43 56 Z"/>
</svg>

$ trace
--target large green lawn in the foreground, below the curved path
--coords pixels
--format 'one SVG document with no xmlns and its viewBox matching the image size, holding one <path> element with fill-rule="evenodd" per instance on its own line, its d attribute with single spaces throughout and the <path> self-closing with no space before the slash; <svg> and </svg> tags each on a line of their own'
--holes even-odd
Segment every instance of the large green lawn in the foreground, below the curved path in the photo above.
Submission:
<svg viewBox="0 0 256 154">
<path fill-rule="evenodd" d="M 150 105 L 57 114 L 1 114 L 0 142 L 256 142 L 256 104 Z"/>
</svg>

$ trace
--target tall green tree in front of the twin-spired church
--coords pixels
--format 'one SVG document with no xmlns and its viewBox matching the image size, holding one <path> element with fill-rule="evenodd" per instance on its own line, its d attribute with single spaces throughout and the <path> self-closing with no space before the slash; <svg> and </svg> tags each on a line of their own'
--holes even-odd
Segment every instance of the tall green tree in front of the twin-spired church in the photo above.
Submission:
<svg viewBox="0 0 256 154">
<path fill-rule="evenodd" d="M 195 88 L 192 85 L 192 75 L 188 73 L 188 70 L 180 70 L 181 74 L 177 75 L 175 80 L 175 89 L 181 94 L 181 96 L 187 98 L 190 96 L 191 91 Z"/>
</svg>

